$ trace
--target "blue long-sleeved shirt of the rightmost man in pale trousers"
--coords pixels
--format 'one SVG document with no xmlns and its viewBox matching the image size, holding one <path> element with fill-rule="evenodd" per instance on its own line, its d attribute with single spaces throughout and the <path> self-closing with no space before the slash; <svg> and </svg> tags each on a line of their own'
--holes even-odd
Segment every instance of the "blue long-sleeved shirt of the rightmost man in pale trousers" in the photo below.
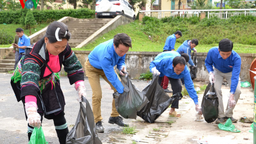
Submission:
<svg viewBox="0 0 256 144">
<path fill-rule="evenodd" d="M 219 54 L 219 47 L 212 47 L 204 62 L 209 73 L 213 71 L 213 66 L 223 73 L 232 72 L 230 93 L 234 94 L 241 70 L 241 57 L 238 53 L 232 50 L 231 55 L 227 59 L 223 59 Z"/>
</svg>

